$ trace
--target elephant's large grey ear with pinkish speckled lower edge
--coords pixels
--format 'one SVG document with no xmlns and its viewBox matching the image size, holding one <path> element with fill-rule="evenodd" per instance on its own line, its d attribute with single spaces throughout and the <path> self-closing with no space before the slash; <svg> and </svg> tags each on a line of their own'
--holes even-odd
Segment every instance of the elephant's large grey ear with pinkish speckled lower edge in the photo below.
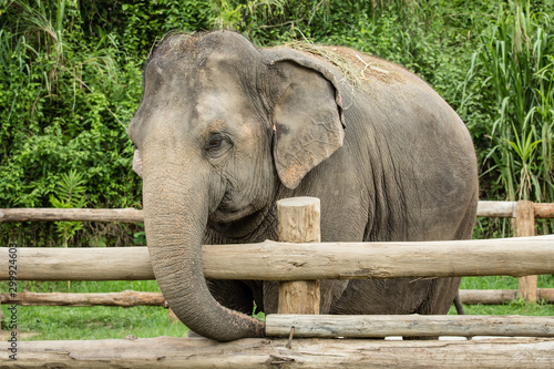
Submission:
<svg viewBox="0 0 554 369">
<path fill-rule="evenodd" d="M 335 76 L 317 63 L 283 58 L 271 64 L 285 81 L 273 110 L 275 166 L 283 184 L 294 189 L 342 146 L 341 98 Z"/>
</svg>

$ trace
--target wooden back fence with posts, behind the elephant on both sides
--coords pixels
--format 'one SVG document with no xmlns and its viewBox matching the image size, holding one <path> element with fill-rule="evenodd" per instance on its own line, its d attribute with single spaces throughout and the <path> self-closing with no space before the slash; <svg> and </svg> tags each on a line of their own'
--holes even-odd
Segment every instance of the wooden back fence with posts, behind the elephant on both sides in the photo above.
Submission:
<svg viewBox="0 0 554 369">
<path fill-rule="evenodd" d="M 534 204 L 532 202 L 488 202 L 481 201 L 478 206 L 478 217 L 505 217 L 513 218 L 514 229 L 516 236 L 534 236 L 534 224 L 535 218 L 553 218 L 554 217 L 554 204 Z M 122 222 L 122 223 L 141 223 L 144 222 L 142 211 L 134 208 L 122 208 L 122 209 L 58 209 L 58 208 L 9 208 L 0 209 L 0 223 L 1 222 L 49 222 L 49 221 L 68 221 L 68 222 Z M 44 252 L 44 248 L 40 248 Z M 45 252 L 44 252 L 45 253 Z M 59 252 L 54 252 L 59 253 Z M 62 252 L 63 253 L 63 252 Z M 76 255 L 76 254 L 75 254 Z M 54 255 L 54 258 L 60 257 Z M 126 254 L 122 256 L 127 257 Z M 27 257 L 25 257 L 27 258 Z M 144 262 L 143 262 L 144 263 Z M 125 260 L 123 259 L 120 266 L 125 267 Z M 507 274 L 510 275 L 510 274 Z M 41 279 L 45 277 L 37 277 L 30 279 Z M 142 277 L 136 276 L 134 278 L 141 279 Z M 151 279 L 152 277 L 148 277 Z M 71 278 L 68 278 L 71 280 Z M 83 280 L 76 279 L 73 280 Z M 73 306 L 86 306 L 90 305 L 103 305 L 102 301 L 106 301 L 109 306 L 132 306 L 133 304 L 141 304 L 145 301 L 151 304 L 151 301 L 158 301 L 160 294 L 151 293 L 150 296 L 142 295 L 141 298 L 132 298 L 129 293 L 121 293 L 121 296 L 116 296 L 117 293 L 109 294 L 104 297 L 102 296 L 76 296 L 76 294 L 66 295 L 65 301 L 63 300 L 63 294 L 53 295 L 51 297 L 37 294 L 24 294 L 18 298 L 18 303 L 21 305 L 72 305 Z M 143 293 L 146 294 L 146 293 Z M 13 301 L 12 298 L 0 295 L 0 303 L 7 304 L 8 301 Z M 100 294 L 99 294 L 100 295 Z M 554 289 L 537 288 L 537 277 L 522 276 L 520 278 L 519 290 L 460 290 L 461 299 L 464 304 L 504 304 L 510 300 L 516 299 L 519 297 L 524 298 L 527 301 L 544 300 L 546 303 L 554 303 Z M 126 301 L 125 301 L 126 300 Z M 58 301 L 58 303 L 57 303 Z M 110 303 L 112 301 L 112 303 Z M 119 303 L 113 303 L 119 301 Z"/>
</svg>

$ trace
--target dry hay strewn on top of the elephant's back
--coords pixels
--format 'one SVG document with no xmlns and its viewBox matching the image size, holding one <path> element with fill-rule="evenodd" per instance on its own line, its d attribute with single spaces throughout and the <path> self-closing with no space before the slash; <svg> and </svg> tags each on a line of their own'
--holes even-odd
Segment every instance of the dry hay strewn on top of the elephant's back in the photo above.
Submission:
<svg viewBox="0 0 554 369">
<path fill-rule="evenodd" d="M 399 73 L 396 70 L 397 65 L 350 48 L 318 45 L 300 41 L 286 43 L 280 48 L 298 50 L 325 60 L 356 86 L 363 86 L 365 82 L 372 79 L 386 83 L 399 80 Z"/>
</svg>

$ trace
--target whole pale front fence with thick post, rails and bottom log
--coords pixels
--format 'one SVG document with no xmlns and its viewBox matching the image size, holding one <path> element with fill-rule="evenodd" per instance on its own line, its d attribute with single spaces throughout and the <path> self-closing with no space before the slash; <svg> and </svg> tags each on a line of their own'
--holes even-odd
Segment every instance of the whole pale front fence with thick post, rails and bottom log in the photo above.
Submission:
<svg viewBox="0 0 554 369">
<path fill-rule="evenodd" d="M 554 366 L 553 317 L 317 315 L 318 279 L 324 278 L 551 274 L 554 273 L 554 236 L 429 243 L 320 243 L 317 199 L 288 199 L 278 207 L 278 245 L 265 242 L 203 247 L 208 278 L 280 281 L 279 314 L 266 317 L 266 335 L 276 338 L 228 344 L 168 337 L 25 341 L 19 342 L 18 360 L 7 365 L 134 368 L 153 365 L 181 368 Z M 8 249 L 0 248 L 0 279 L 7 279 Z M 248 258 L 240 255 L 248 255 Z M 18 279 L 150 278 L 153 274 L 145 247 L 18 249 Z M 470 341 L 357 339 L 443 335 L 511 338 Z M 343 339 L 298 339 L 301 337 Z M 9 351 L 10 345 L 0 342 L 0 350 Z"/>
</svg>

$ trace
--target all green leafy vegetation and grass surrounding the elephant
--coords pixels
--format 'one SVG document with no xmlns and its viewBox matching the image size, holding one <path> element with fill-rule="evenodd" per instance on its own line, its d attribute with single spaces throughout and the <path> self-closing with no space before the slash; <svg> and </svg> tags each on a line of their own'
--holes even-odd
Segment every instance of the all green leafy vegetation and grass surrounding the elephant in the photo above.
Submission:
<svg viewBox="0 0 554 369">
<path fill-rule="evenodd" d="M 470 129 L 481 198 L 554 202 L 553 9 L 553 0 L 0 0 L 0 208 L 140 208 L 126 126 L 142 96 L 144 62 L 167 32 L 214 28 L 242 32 L 260 47 L 341 44 L 404 65 Z M 483 218 L 475 236 L 509 236 L 509 226 Z M 552 221 L 538 230 L 552 233 Z M 9 239 L 22 246 L 145 242 L 142 225 L 98 223 L 0 224 L 0 245 Z M 553 287 L 552 278 L 541 280 Z M 24 288 L 157 289 L 140 281 Z M 514 288 L 514 280 L 464 278 L 462 288 Z M 185 331 L 166 325 L 166 310 L 155 307 L 19 311 L 23 329 L 39 332 L 35 339 L 122 338 L 134 327 L 141 337 Z M 515 303 L 468 312 L 553 311 Z"/>
</svg>

